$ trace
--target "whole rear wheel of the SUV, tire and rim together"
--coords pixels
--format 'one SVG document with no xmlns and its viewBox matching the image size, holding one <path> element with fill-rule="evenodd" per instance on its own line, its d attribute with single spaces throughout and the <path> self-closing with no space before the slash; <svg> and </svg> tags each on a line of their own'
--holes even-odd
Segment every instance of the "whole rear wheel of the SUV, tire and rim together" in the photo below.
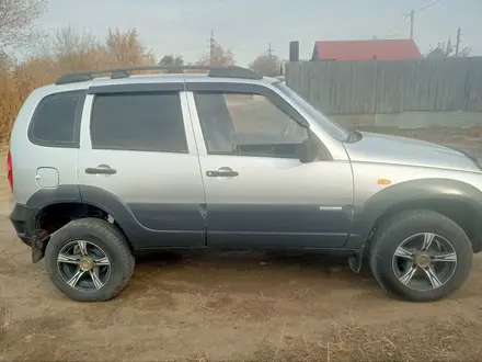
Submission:
<svg viewBox="0 0 482 362">
<path fill-rule="evenodd" d="M 53 283 L 70 298 L 101 302 L 113 298 L 127 285 L 135 259 L 114 225 L 83 218 L 51 236 L 45 264 Z"/>
</svg>

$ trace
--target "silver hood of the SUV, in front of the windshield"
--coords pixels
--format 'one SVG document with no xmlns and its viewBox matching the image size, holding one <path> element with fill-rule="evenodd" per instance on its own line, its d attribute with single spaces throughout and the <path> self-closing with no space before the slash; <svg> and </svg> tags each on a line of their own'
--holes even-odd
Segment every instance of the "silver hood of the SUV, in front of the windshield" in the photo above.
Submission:
<svg viewBox="0 0 482 362">
<path fill-rule="evenodd" d="M 481 171 L 464 152 L 449 147 L 368 132 L 362 135 L 360 140 L 345 144 L 352 161 Z"/>
</svg>

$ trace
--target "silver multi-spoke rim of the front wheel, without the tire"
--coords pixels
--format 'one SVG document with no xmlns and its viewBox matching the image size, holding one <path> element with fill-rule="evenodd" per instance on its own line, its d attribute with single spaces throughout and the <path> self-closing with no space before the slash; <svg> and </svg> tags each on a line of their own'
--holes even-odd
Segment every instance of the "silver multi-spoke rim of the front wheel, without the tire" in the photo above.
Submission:
<svg viewBox="0 0 482 362">
<path fill-rule="evenodd" d="M 440 235 L 415 234 L 395 249 L 392 269 L 399 282 L 412 290 L 436 290 L 454 275 L 457 252 L 451 242 Z"/>
</svg>

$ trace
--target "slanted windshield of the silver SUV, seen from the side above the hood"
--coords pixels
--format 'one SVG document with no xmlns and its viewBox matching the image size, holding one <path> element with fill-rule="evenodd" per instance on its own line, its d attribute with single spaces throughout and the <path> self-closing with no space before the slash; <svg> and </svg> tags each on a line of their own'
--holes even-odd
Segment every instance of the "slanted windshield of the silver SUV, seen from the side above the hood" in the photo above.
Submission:
<svg viewBox="0 0 482 362">
<path fill-rule="evenodd" d="M 305 111 L 314 122 L 317 122 L 334 138 L 341 142 L 346 142 L 348 139 L 349 133 L 345 128 L 330 121 L 323 113 L 312 106 L 291 88 L 286 86 L 285 82 L 275 82 L 273 83 L 273 86 L 275 86 L 283 93 L 288 95 L 289 99 L 291 99 L 302 111 Z"/>
</svg>

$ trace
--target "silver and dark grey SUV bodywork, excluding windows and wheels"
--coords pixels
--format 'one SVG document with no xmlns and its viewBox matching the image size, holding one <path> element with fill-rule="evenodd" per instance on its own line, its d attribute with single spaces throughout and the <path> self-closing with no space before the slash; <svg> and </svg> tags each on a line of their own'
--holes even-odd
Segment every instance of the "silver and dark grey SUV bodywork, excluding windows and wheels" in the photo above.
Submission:
<svg viewBox="0 0 482 362">
<path fill-rule="evenodd" d="M 363 133 L 358 142 L 341 142 L 276 82 L 271 78 L 146 75 L 39 88 L 27 98 L 12 128 L 15 202 L 25 205 L 28 217 L 54 203 L 97 206 L 114 217 L 135 249 L 207 245 L 356 250 L 365 245 L 377 218 L 398 203 L 445 197 L 482 211 L 481 169 L 462 152 L 370 133 Z M 88 94 L 83 104 L 80 148 L 44 147 L 28 140 L 31 118 L 49 94 L 110 87 L 125 91 L 133 84 L 137 90 L 142 84 L 160 90 L 169 83 L 184 84 L 180 97 L 187 154 L 92 149 L 90 114 L 95 94 Z M 205 84 L 254 84 L 276 93 L 309 123 L 331 160 L 301 163 L 208 155 L 192 93 Z M 87 168 L 102 163 L 118 172 L 107 177 L 85 173 Z M 206 177 L 220 167 L 231 167 L 240 178 Z M 41 168 L 58 172 L 57 186 L 36 180 Z M 18 210 L 12 217 L 21 225 L 25 212 Z M 35 233 L 34 224 L 28 223 L 30 233 Z"/>
</svg>

